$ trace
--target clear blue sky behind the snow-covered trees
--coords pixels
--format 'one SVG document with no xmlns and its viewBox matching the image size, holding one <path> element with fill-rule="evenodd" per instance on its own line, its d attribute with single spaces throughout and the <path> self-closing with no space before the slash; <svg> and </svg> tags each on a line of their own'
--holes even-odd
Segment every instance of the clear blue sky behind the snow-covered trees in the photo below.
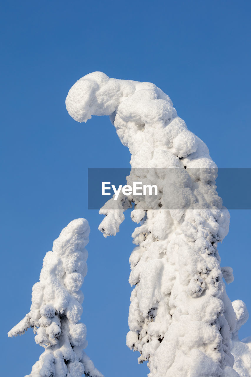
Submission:
<svg viewBox="0 0 251 377">
<path fill-rule="evenodd" d="M 132 288 L 130 213 L 116 237 L 98 231 L 87 209 L 87 168 L 127 167 L 130 155 L 108 117 L 86 124 L 65 109 L 70 87 L 89 72 L 150 81 L 167 93 L 219 167 L 250 167 L 250 11 L 248 1 L 6 2 L 2 29 L 3 375 L 29 374 L 43 349 L 34 334 L 7 332 L 29 311 L 32 285 L 52 242 L 72 219 L 90 227 L 83 322 L 87 354 L 105 376 L 146 376 L 126 347 Z M 231 210 L 219 245 L 234 269 L 231 300 L 249 294 L 250 210 Z M 251 320 L 240 337 L 251 335 Z"/>
</svg>

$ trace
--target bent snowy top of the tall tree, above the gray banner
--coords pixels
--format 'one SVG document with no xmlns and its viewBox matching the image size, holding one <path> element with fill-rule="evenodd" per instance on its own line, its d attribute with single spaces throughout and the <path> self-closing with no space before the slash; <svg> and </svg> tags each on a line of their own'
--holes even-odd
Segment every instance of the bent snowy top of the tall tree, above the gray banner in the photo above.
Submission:
<svg viewBox="0 0 251 377">
<path fill-rule="evenodd" d="M 78 122 L 110 115 L 121 142 L 130 149 L 132 167 L 177 167 L 179 158 L 188 155 L 189 167 L 216 167 L 207 146 L 187 129 L 168 95 L 155 84 L 93 72 L 72 86 L 66 108 Z"/>
</svg>

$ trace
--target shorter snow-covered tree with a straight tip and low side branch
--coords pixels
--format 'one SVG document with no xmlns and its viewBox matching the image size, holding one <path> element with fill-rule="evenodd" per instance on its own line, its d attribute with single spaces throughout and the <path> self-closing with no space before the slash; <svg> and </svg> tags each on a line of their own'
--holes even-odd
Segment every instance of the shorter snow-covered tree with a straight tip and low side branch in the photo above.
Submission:
<svg viewBox="0 0 251 377">
<path fill-rule="evenodd" d="M 73 220 L 61 231 L 32 288 L 30 312 L 8 333 L 21 335 L 31 327 L 36 343 L 45 348 L 26 377 L 103 377 L 83 351 L 86 326 L 79 322 L 89 233 L 86 219 Z"/>
</svg>

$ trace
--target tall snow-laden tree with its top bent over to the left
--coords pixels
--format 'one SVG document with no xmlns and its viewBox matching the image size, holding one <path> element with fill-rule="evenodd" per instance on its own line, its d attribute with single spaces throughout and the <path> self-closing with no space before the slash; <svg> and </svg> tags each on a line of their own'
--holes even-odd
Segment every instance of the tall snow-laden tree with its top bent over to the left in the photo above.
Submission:
<svg viewBox="0 0 251 377">
<path fill-rule="evenodd" d="M 230 216 L 207 146 L 152 83 L 93 72 L 69 90 L 66 108 L 79 122 L 110 115 L 132 155 L 128 184 L 158 186 L 154 199 L 120 193 L 99 212 L 106 215 L 99 230 L 115 235 L 123 211 L 135 203 L 131 217 L 140 226 L 132 234 L 127 345 L 141 353 L 139 362 L 148 361 L 148 376 L 250 376 L 251 343 L 237 337 L 248 314 L 226 294 L 223 277 L 230 283 L 232 269 L 220 268 L 217 251 Z"/>
</svg>

